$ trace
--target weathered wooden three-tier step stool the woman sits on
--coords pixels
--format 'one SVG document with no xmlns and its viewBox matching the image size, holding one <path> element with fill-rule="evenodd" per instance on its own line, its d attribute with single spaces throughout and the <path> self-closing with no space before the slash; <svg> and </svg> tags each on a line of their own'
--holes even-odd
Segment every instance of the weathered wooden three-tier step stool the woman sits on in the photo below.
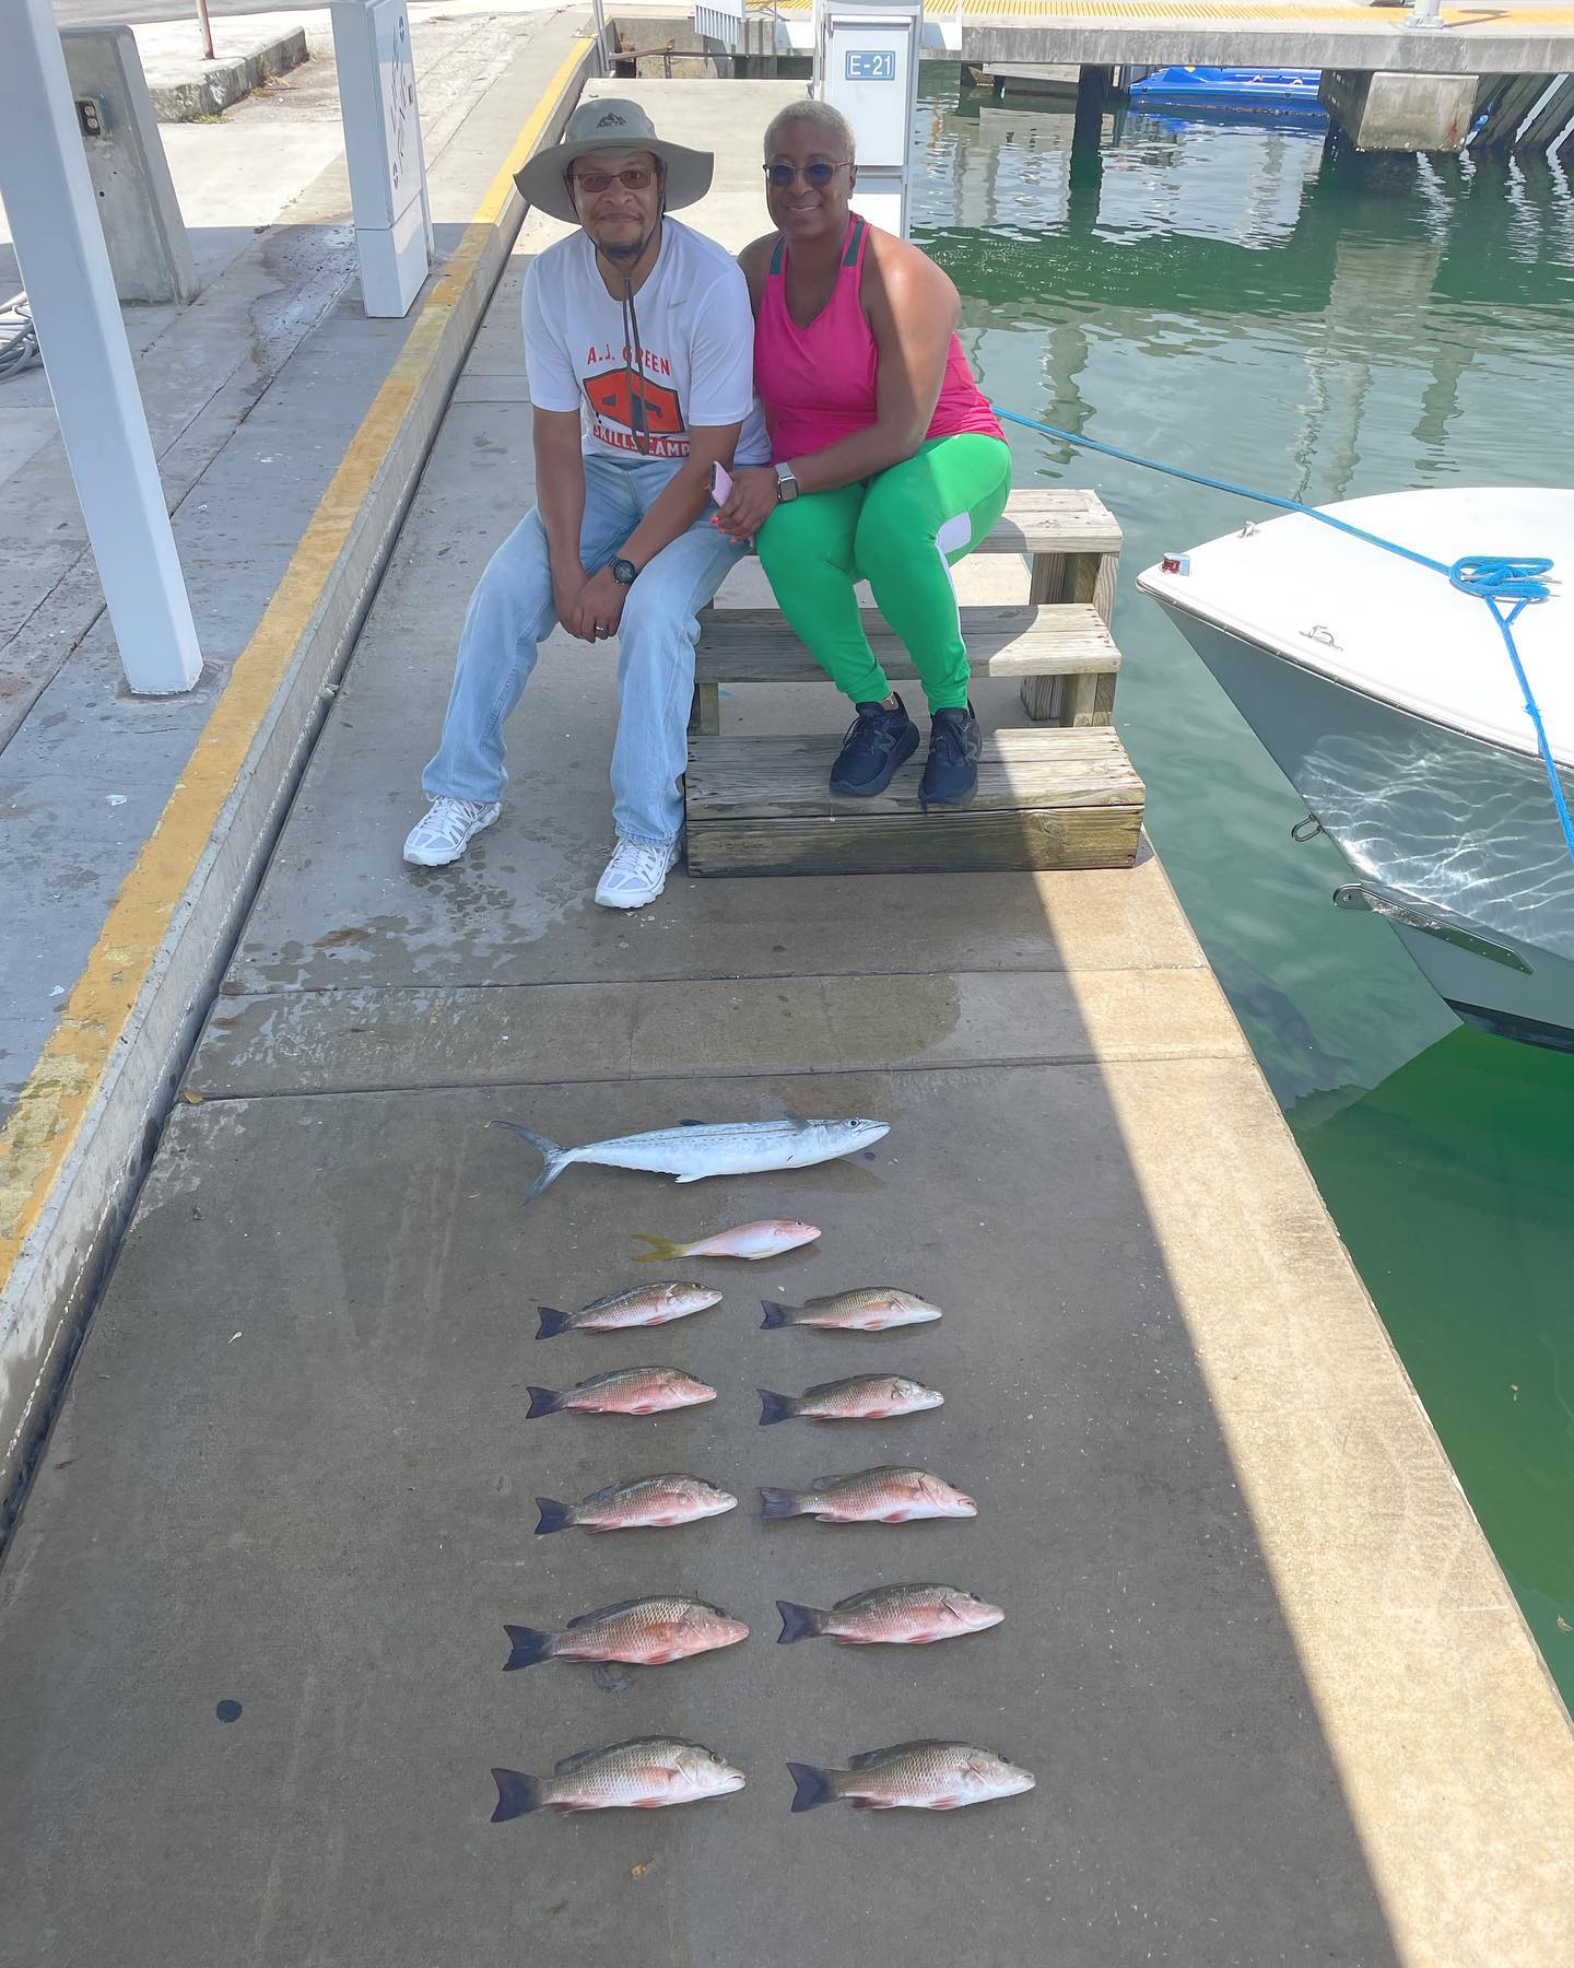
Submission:
<svg viewBox="0 0 1574 1968">
<path fill-rule="evenodd" d="M 978 553 L 1029 561 L 1029 598 L 964 606 L 974 677 L 1015 677 L 1029 724 L 984 742 L 978 797 L 919 805 L 923 748 L 876 799 L 828 787 L 840 734 L 720 734 L 722 685 L 830 679 L 773 608 L 700 622 L 685 809 L 689 874 L 927 874 L 970 868 L 1129 868 L 1143 783 L 1112 728 L 1120 651 L 1110 608 L 1120 525 L 1092 492 L 1015 492 Z M 893 683 L 913 661 L 879 618 L 866 630 Z M 921 707 L 915 707 L 925 726 Z"/>
</svg>

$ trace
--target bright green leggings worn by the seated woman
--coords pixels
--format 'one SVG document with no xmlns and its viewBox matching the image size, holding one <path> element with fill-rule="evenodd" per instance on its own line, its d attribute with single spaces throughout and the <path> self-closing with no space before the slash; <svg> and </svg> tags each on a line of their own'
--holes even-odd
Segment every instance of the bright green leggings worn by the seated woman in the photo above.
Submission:
<svg viewBox="0 0 1574 1968">
<path fill-rule="evenodd" d="M 757 535 L 781 612 L 854 705 L 891 693 L 858 618 L 864 579 L 913 655 L 931 710 L 968 701 L 968 651 L 950 567 L 1005 510 L 1011 453 L 998 437 L 937 437 L 834 492 L 777 506 Z"/>
</svg>

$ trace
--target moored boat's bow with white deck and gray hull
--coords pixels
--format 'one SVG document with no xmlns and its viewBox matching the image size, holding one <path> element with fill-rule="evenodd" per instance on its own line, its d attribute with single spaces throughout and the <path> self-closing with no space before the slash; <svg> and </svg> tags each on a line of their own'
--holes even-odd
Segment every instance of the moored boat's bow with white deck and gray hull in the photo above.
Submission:
<svg viewBox="0 0 1574 1968">
<path fill-rule="evenodd" d="M 1515 622 L 1574 803 L 1574 490 L 1460 488 L 1326 512 L 1432 561 L 1552 561 Z M 1574 1047 L 1574 856 L 1525 697 L 1485 602 L 1399 555 L 1289 514 L 1137 577 L 1304 797 L 1375 907 L 1460 1015 Z"/>
</svg>

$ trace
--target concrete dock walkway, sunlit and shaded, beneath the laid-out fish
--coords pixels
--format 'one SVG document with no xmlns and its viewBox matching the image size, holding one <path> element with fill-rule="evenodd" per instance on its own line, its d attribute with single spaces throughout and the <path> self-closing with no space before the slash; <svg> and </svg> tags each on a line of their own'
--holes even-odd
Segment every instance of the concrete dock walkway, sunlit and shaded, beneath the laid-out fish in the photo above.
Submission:
<svg viewBox="0 0 1574 1968">
<path fill-rule="evenodd" d="M 714 144 L 685 216 L 763 230 L 756 146 L 793 85 L 594 87 Z M 0 1568 L 0 1964 L 1544 1968 L 1574 1944 L 1568 1714 L 1151 852 L 677 874 L 598 911 L 614 661 L 553 638 L 502 821 L 453 870 L 401 866 L 464 602 L 531 498 L 519 281 L 559 230 L 527 220 L 464 360 Z M 986 720 L 1019 714 L 988 691 Z M 756 697 L 750 728 L 811 707 Z M 783 1108 L 891 1132 L 685 1189 L 573 1169 L 521 1212 L 535 1157 L 484 1126 Z M 820 1242 L 696 1265 L 714 1311 L 531 1338 L 535 1303 L 643 1281 L 632 1232 L 771 1214 Z M 944 1321 L 759 1330 L 761 1299 L 876 1279 Z M 643 1360 L 718 1399 L 523 1421 L 527 1382 Z M 946 1405 L 757 1427 L 756 1385 L 876 1366 Z M 757 1521 L 761 1482 L 881 1460 L 978 1519 Z M 740 1509 L 531 1537 L 535 1496 L 679 1468 Z M 775 1598 L 903 1578 L 1007 1620 L 773 1645 Z M 752 1639 L 620 1692 L 504 1677 L 504 1622 L 663 1586 Z M 492 1765 L 657 1730 L 748 1789 L 488 1824 Z M 785 1759 L 917 1736 L 1037 1789 L 789 1814 Z"/>
</svg>

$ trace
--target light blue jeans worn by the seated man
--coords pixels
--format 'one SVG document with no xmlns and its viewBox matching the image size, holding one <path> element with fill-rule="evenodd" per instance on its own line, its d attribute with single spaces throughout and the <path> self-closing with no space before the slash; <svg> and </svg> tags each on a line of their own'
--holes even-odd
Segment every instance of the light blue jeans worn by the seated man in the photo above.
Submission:
<svg viewBox="0 0 1574 1968">
<path fill-rule="evenodd" d="M 578 557 L 586 575 L 614 561 L 679 464 L 641 459 L 584 461 L 584 523 Z M 618 742 L 612 750 L 612 819 L 620 840 L 669 842 L 683 829 L 679 779 L 689 764 L 698 610 L 742 557 L 726 533 L 700 518 L 669 541 L 628 590 L 618 653 Z M 480 577 L 458 638 L 454 687 L 443 744 L 421 775 L 429 797 L 502 799 L 504 720 L 535 669 L 537 644 L 557 626 L 547 529 L 531 508 Z"/>
</svg>

